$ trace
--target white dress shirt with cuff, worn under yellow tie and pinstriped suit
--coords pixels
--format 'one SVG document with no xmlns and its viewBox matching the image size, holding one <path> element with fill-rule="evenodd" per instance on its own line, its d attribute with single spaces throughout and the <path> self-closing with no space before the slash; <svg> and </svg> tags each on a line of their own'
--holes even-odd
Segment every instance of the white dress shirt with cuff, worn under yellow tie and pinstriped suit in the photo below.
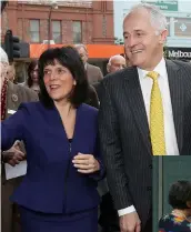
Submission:
<svg viewBox="0 0 191 232">
<path fill-rule="evenodd" d="M 165 151 L 167 155 L 179 155 L 175 128 L 173 121 L 172 103 L 169 89 L 168 72 L 165 67 L 165 61 L 162 58 L 160 63 L 153 70 L 159 73 L 158 83 L 161 91 L 162 104 L 163 104 L 163 115 L 164 115 L 164 138 L 165 138 Z M 153 80 L 147 77 L 149 71 L 138 68 L 139 81 L 142 90 L 142 95 L 144 100 L 145 111 L 148 115 L 148 122 L 150 124 L 150 98 Z M 135 211 L 134 206 L 119 210 L 119 216 L 127 213 Z"/>
</svg>

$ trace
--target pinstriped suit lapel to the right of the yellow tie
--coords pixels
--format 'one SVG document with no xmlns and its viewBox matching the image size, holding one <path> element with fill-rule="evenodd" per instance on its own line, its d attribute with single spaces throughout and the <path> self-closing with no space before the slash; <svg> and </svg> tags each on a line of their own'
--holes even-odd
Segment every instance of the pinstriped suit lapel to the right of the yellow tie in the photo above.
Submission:
<svg viewBox="0 0 191 232">
<path fill-rule="evenodd" d="M 167 71 L 173 111 L 173 120 L 178 140 L 179 152 L 181 153 L 183 140 L 183 80 L 180 68 L 172 61 L 167 60 Z"/>
</svg>

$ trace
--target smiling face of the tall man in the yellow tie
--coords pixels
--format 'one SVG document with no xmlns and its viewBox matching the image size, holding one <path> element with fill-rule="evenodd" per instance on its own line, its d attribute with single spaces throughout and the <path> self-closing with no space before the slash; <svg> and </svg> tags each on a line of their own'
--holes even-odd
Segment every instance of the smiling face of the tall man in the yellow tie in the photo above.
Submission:
<svg viewBox="0 0 191 232">
<path fill-rule="evenodd" d="M 151 24 L 150 13 L 145 9 L 131 12 L 124 19 L 123 36 L 130 63 L 145 70 L 155 68 L 163 56 L 167 31 L 157 36 L 157 29 Z"/>
</svg>

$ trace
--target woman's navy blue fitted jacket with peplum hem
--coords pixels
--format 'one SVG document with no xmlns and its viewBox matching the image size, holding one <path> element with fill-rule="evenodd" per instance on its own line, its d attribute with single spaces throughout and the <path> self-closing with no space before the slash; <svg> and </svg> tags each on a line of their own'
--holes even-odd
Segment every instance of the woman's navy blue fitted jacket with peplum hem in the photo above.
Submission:
<svg viewBox="0 0 191 232">
<path fill-rule="evenodd" d="M 56 107 L 47 109 L 41 102 L 21 104 L 2 122 L 2 150 L 16 140 L 23 140 L 28 169 L 12 201 L 24 208 L 46 213 L 73 213 L 99 204 L 97 180 L 103 176 L 98 144 L 98 110 L 81 104 L 71 148 Z M 72 164 L 78 153 L 94 154 L 101 171 L 81 174 Z M 78 190 L 78 191 L 77 191 Z"/>
</svg>

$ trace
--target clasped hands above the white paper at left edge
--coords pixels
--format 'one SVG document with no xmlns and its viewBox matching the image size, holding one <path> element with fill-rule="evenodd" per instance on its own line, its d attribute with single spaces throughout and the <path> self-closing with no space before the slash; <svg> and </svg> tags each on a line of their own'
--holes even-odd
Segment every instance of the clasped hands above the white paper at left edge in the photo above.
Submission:
<svg viewBox="0 0 191 232">
<path fill-rule="evenodd" d="M 20 161 L 24 160 L 24 158 L 26 154 L 22 151 L 20 151 L 18 142 L 16 142 L 11 149 L 3 152 L 4 162 L 9 163 L 12 167 L 19 164 Z"/>
</svg>

